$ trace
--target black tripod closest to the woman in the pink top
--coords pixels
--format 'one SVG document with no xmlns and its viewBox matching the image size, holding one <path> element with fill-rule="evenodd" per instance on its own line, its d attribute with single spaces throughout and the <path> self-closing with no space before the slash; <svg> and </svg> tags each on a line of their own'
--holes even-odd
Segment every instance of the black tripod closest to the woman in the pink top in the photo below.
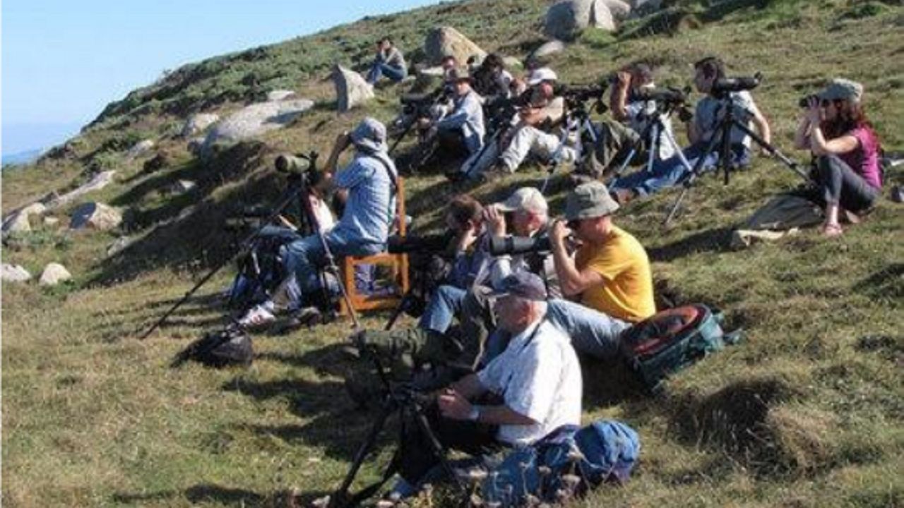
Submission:
<svg viewBox="0 0 904 508">
<path fill-rule="evenodd" d="M 719 150 L 719 163 L 716 166 L 716 170 L 718 171 L 719 169 L 721 169 L 723 171 L 724 183 L 726 185 L 729 184 L 729 174 L 732 169 L 731 129 L 733 128 L 737 128 L 745 135 L 750 136 L 751 139 L 757 142 L 757 145 L 762 146 L 769 153 L 769 155 L 775 156 L 789 169 L 800 175 L 800 177 L 803 178 L 805 182 L 810 181 L 809 175 L 806 174 L 806 172 L 800 167 L 799 164 L 796 163 L 796 161 L 793 161 L 786 155 L 782 154 L 775 146 L 767 143 L 765 139 L 763 139 L 761 136 L 758 136 L 758 134 L 753 132 L 750 127 L 741 123 L 739 119 L 736 118 L 735 105 L 733 100 L 731 99 L 730 93 L 725 93 L 724 96 L 720 98 L 720 104 L 716 109 L 715 118 L 719 118 L 720 111 L 724 111 L 725 114 L 720 119 L 719 125 L 716 127 L 716 130 L 712 133 L 709 144 L 707 144 L 702 154 L 697 158 L 697 162 L 695 165 L 693 165 L 691 173 L 688 174 L 688 176 L 684 179 L 684 188 L 682 189 L 681 194 L 678 195 L 678 199 L 675 200 L 671 212 L 669 212 L 668 216 L 665 217 L 665 221 L 663 222 L 665 225 L 673 220 L 675 213 L 678 212 L 678 207 L 681 206 L 681 203 L 684 200 L 684 196 L 687 195 L 688 191 L 691 190 L 693 183 L 696 182 L 697 178 L 703 173 L 703 163 L 706 161 L 707 155 L 710 155 L 717 148 Z"/>
</svg>

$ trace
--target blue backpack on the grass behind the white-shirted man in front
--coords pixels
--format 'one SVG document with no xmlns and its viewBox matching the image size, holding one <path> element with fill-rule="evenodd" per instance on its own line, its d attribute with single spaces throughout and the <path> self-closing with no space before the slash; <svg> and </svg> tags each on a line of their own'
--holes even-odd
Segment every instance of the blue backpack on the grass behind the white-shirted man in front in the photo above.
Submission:
<svg viewBox="0 0 904 508">
<path fill-rule="evenodd" d="M 621 422 L 565 426 L 490 462 L 480 494 L 485 505 L 523 506 L 529 496 L 556 503 L 563 493 L 574 497 L 603 482 L 626 482 L 639 453 L 637 433 Z"/>
</svg>

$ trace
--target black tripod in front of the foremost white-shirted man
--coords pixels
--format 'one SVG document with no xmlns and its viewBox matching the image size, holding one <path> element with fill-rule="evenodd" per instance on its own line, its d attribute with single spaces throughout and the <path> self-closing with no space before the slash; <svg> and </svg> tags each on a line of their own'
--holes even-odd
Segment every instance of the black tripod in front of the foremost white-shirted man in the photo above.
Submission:
<svg viewBox="0 0 904 508">
<path fill-rule="evenodd" d="M 391 382 L 387 378 L 386 372 L 383 370 L 383 366 L 379 358 L 379 352 L 373 350 L 370 353 L 370 356 L 372 358 L 374 366 L 377 369 L 377 372 L 380 375 L 380 381 L 383 387 L 383 400 L 380 412 L 373 420 L 373 424 L 370 431 L 368 431 L 367 433 L 367 437 L 364 438 L 363 443 L 355 452 L 352 466 L 349 468 L 348 473 L 345 474 L 343 483 L 330 497 L 329 507 L 346 508 L 357 506 L 359 503 L 375 494 L 376 491 L 380 489 L 382 484 L 385 484 L 391 478 L 391 476 L 395 474 L 396 470 L 398 469 L 398 450 L 392 457 L 391 463 L 389 466 L 387 466 L 386 471 L 383 473 L 380 481 L 368 487 L 365 487 L 357 494 L 349 494 L 349 489 L 352 486 L 355 475 L 357 475 L 358 471 L 361 469 L 364 459 L 366 459 L 367 456 L 370 455 L 373 451 L 373 447 L 376 445 L 377 438 L 380 437 L 383 428 L 386 426 L 386 420 L 389 419 L 395 412 L 400 413 L 401 419 L 408 417 L 414 420 L 420 431 L 424 433 L 424 436 L 428 437 L 429 447 L 431 448 L 433 453 L 435 453 L 436 456 L 439 457 L 440 466 L 445 470 L 446 474 L 449 477 L 453 478 L 457 486 L 460 489 L 464 490 L 465 485 L 463 484 L 462 480 L 458 478 L 457 475 L 455 475 L 452 466 L 447 460 L 446 450 L 439 442 L 436 434 L 434 434 L 433 430 L 430 428 L 429 421 L 424 413 L 424 408 L 430 403 L 430 398 L 410 385 L 392 386 Z"/>
</svg>

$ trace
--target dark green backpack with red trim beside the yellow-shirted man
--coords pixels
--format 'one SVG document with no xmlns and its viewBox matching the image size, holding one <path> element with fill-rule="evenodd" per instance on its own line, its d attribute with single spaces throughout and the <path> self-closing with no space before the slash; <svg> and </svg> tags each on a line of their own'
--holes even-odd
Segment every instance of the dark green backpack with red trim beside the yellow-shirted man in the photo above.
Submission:
<svg viewBox="0 0 904 508">
<path fill-rule="evenodd" d="M 622 353 L 646 389 L 659 391 L 669 374 L 739 342 L 741 331 L 724 333 L 723 319 L 719 310 L 699 304 L 664 310 L 622 334 Z"/>
</svg>

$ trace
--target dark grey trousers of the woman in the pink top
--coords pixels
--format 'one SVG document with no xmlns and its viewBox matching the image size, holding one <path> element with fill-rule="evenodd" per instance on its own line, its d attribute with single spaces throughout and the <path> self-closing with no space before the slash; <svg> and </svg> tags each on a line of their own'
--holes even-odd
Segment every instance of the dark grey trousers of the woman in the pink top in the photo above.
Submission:
<svg viewBox="0 0 904 508">
<path fill-rule="evenodd" d="M 816 179 L 826 204 L 838 204 L 851 212 L 870 208 L 880 193 L 838 155 L 817 159 Z"/>
</svg>

